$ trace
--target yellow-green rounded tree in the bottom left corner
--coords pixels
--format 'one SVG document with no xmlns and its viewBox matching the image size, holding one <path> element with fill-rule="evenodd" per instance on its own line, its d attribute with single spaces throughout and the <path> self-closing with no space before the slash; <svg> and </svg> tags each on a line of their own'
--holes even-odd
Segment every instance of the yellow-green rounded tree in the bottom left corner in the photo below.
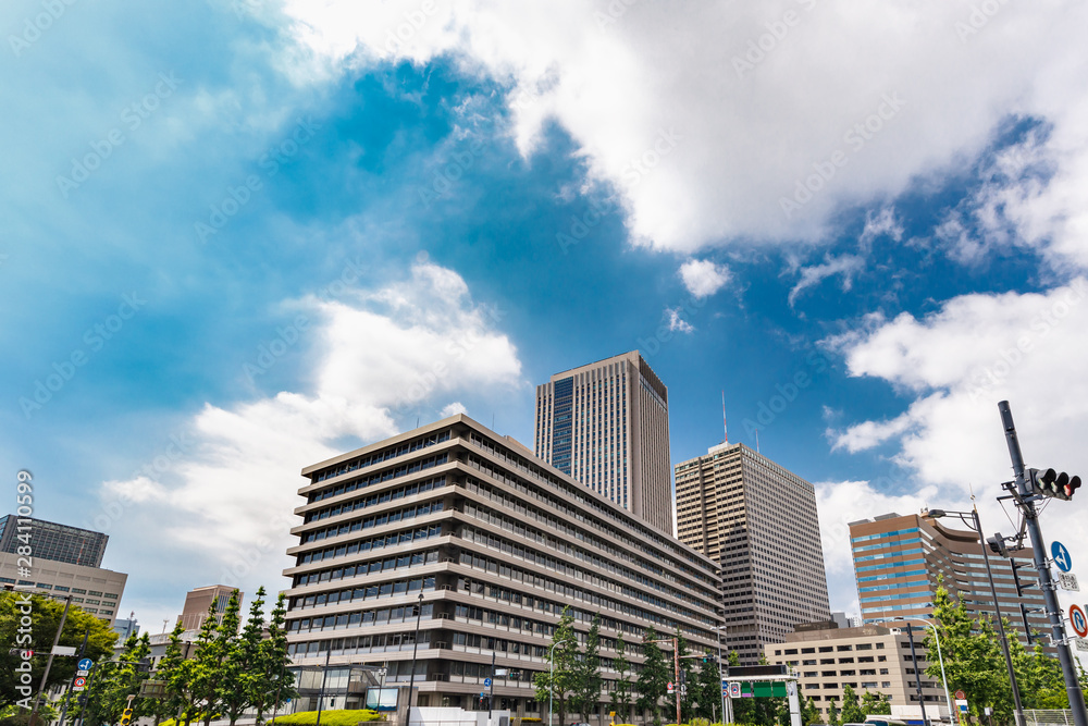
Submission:
<svg viewBox="0 0 1088 726">
<path fill-rule="evenodd" d="M 29 606 L 25 605 L 27 600 L 29 600 Z M 24 613 L 23 610 L 30 612 Z M 16 670 L 23 663 L 22 651 L 12 652 L 9 649 L 34 649 L 41 653 L 41 655 L 35 655 L 30 659 L 30 682 L 36 693 L 46 669 L 49 647 L 57 636 L 57 628 L 63 612 L 64 604 L 49 598 L 37 594 L 27 598 L 21 592 L 0 591 L 0 643 L 5 643 L 0 650 L 0 709 L 23 699 L 23 693 L 18 690 L 18 687 L 22 686 L 20 673 Z M 26 629 L 22 625 L 21 618 L 23 617 L 30 618 L 28 632 L 21 631 L 21 629 Z M 83 637 L 87 632 L 90 633 L 85 651 L 87 657 L 97 663 L 113 653 L 113 643 L 116 641 L 118 635 L 110 629 L 107 623 L 73 604 L 69 607 L 60 644 L 79 648 L 83 643 Z M 47 688 L 67 682 L 74 676 L 75 659 L 53 659 Z M 30 697 L 32 703 L 33 700 L 34 696 Z"/>
</svg>

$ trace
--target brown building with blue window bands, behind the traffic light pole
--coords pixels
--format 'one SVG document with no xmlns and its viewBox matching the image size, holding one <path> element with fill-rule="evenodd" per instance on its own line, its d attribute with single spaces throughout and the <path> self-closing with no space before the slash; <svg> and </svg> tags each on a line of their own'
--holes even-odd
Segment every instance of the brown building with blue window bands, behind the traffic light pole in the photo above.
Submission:
<svg viewBox="0 0 1088 726">
<path fill-rule="evenodd" d="M 972 617 L 985 613 L 993 622 L 993 596 L 977 533 L 927 516 L 892 513 L 851 522 L 850 546 L 863 622 L 931 618 L 938 578 Z M 1023 641 L 1025 629 L 1046 633 L 1050 626 L 1033 551 L 1014 554 L 1011 559 L 990 555 L 990 567 L 1001 615 Z"/>
</svg>

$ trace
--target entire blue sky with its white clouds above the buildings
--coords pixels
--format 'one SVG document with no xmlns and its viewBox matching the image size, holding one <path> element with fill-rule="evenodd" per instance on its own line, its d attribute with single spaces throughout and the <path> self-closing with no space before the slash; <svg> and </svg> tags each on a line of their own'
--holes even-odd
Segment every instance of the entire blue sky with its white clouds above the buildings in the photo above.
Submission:
<svg viewBox="0 0 1088 726">
<path fill-rule="evenodd" d="M 1076 23 L 903 12 L 7 3 L 0 462 L 154 625 L 283 587 L 302 466 L 452 410 L 530 442 L 536 383 L 639 348 L 673 463 L 724 391 L 817 484 L 856 610 L 845 522 L 1010 528 L 999 399 L 1088 471 Z"/>
</svg>

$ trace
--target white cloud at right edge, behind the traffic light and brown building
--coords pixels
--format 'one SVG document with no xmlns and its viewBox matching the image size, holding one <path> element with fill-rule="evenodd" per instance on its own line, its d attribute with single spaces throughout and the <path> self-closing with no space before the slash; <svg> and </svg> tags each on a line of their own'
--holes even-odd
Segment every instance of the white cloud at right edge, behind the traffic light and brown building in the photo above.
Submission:
<svg viewBox="0 0 1088 726">
<path fill-rule="evenodd" d="M 974 493 L 986 531 L 1015 530 L 996 497 L 1012 478 L 999 401 L 1009 401 L 1028 466 L 1088 472 L 1088 282 L 1046 294 L 965 295 L 923 319 L 903 315 L 842 339 L 852 376 L 883 379 L 913 402 L 890 421 L 838 432 L 836 445 L 893 445 L 918 487 L 939 488 L 929 504 L 966 509 Z M 923 490 L 925 491 L 925 490 Z M 1054 502 L 1043 532 L 1074 559 L 1088 557 L 1084 502 Z"/>
</svg>

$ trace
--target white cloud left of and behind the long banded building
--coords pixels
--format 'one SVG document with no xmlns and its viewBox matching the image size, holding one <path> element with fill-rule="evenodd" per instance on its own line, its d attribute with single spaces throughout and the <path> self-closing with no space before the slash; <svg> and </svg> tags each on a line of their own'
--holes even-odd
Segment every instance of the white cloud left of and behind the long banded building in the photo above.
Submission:
<svg viewBox="0 0 1088 726">
<path fill-rule="evenodd" d="M 400 418 L 410 428 L 419 408 L 463 410 L 443 404 L 457 392 L 521 383 L 517 350 L 494 328 L 500 315 L 450 270 L 421 262 L 408 281 L 298 305 L 312 317 L 312 392 L 206 404 L 169 464 L 104 482 L 89 521 L 120 541 L 114 566 L 274 591 L 297 542 L 289 513 L 304 466 L 397 433 Z"/>
</svg>

